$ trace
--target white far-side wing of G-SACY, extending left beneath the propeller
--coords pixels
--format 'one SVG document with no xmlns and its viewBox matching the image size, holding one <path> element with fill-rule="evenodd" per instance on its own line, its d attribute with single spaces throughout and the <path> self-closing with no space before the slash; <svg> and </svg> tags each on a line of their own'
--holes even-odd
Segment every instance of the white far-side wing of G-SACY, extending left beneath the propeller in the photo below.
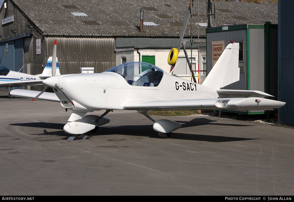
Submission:
<svg viewBox="0 0 294 202">
<path fill-rule="evenodd" d="M 36 97 L 40 91 L 34 90 L 22 90 L 22 89 L 15 89 L 10 91 L 10 95 L 15 97 L 25 97 L 25 98 L 34 98 Z M 55 93 L 52 92 L 44 92 L 40 95 L 37 99 L 39 100 L 49 100 L 53 102 L 60 102 L 59 98 L 56 96 Z"/>
</svg>

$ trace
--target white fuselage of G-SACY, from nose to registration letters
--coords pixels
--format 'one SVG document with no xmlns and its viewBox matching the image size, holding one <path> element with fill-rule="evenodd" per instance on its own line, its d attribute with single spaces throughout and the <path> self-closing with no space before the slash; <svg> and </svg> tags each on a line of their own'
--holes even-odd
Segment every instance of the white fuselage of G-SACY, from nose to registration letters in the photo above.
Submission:
<svg viewBox="0 0 294 202">
<path fill-rule="evenodd" d="M 46 80 L 47 85 L 49 79 Z M 75 107 L 55 89 L 61 104 L 73 110 L 124 110 L 124 105 L 130 101 L 202 99 L 218 96 L 214 89 L 167 73 L 163 73 L 157 86 L 133 86 L 121 75 L 113 72 L 59 75 L 52 81 L 51 87 L 54 87 L 55 83 L 71 97 Z"/>
</svg>

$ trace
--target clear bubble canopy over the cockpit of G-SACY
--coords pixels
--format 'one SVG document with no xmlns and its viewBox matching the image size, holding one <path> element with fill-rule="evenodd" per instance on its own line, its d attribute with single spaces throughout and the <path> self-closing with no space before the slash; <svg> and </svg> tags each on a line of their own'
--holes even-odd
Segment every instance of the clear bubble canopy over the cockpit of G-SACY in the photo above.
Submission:
<svg viewBox="0 0 294 202">
<path fill-rule="evenodd" d="M 143 62 L 124 63 L 105 72 L 117 73 L 133 86 L 158 86 L 163 76 L 163 70 Z"/>
</svg>

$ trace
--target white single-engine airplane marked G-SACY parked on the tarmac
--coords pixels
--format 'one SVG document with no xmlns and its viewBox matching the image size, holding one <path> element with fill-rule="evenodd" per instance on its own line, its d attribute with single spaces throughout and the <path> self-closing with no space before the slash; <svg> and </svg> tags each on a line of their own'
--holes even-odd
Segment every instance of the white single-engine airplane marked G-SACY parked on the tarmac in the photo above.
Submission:
<svg viewBox="0 0 294 202">
<path fill-rule="evenodd" d="M 104 116 L 113 110 L 141 112 L 154 122 L 153 129 L 161 138 L 168 138 L 181 124 L 165 119 L 155 121 L 147 115 L 148 110 L 273 110 L 285 105 L 263 98 L 273 96 L 260 91 L 220 89 L 239 80 L 238 54 L 239 43 L 230 43 L 202 85 L 165 73 L 149 63 L 132 62 L 103 73 L 59 75 L 43 80 L 55 94 L 16 89 L 11 95 L 60 102 L 66 110 L 72 110 L 64 131 L 77 139 L 108 123 L 110 120 Z M 85 116 L 96 110 L 106 111 L 100 117 Z"/>
</svg>

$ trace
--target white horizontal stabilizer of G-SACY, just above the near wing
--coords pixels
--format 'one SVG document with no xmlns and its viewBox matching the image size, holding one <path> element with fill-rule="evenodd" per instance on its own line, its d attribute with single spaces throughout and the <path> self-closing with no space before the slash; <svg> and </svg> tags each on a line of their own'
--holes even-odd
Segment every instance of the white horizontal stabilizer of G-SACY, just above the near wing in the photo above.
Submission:
<svg viewBox="0 0 294 202">
<path fill-rule="evenodd" d="M 226 96 L 275 97 L 273 95 L 258 90 L 216 90 L 216 92 L 218 92 L 218 94 L 223 94 Z"/>
</svg>

